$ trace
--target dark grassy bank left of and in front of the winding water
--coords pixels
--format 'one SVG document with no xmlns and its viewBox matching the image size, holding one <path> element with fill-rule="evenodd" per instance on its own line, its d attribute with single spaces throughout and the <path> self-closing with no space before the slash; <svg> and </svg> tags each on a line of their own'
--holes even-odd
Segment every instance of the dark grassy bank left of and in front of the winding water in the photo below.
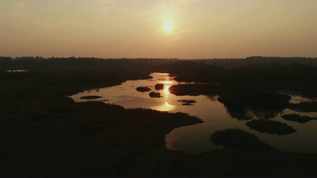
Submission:
<svg viewBox="0 0 317 178">
<path fill-rule="evenodd" d="M 229 146 L 199 155 L 167 150 L 165 134 L 202 121 L 184 113 L 124 109 L 103 102 L 75 103 L 65 97 L 84 89 L 147 79 L 150 71 L 127 68 L 127 63 L 121 67 L 120 61 L 111 60 L 103 65 L 116 67 L 105 70 L 94 68 L 103 61 L 84 61 L 74 68 L 65 60 L 59 64 L 67 65 L 58 69 L 30 67 L 40 65 L 35 67 L 40 69 L 50 62 L 53 60 L 14 61 L 30 72 L 0 72 L 1 177 L 317 176 L 317 154 L 287 153 L 259 145 Z M 90 67 L 80 68 L 86 63 Z M 189 87 L 195 94 L 199 88 L 194 88 Z M 207 94 L 214 88 L 201 89 Z M 223 103 L 232 98 L 236 100 L 222 98 Z M 240 133 L 240 138 L 248 135 Z M 227 138 L 218 133 L 217 140 Z M 222 141 L 219 144 L 228 146 Z"/>
</svg>

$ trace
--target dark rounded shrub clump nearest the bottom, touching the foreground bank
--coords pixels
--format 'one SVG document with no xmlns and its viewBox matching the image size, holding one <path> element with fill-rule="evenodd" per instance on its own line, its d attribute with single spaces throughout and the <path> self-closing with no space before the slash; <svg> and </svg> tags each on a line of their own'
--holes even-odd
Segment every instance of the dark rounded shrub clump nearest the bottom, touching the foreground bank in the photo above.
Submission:
<svg viewBox="0 0 317 178">
<path fill-rule="evenodd" d="M 211 134 L 210 141 L 215 145 L 223 145 L 226 147 L 269 146 L 260 141 L 256 135 L 247 133 L 238 128 L 216 131 L 214 134 Z"/>
</svg>

